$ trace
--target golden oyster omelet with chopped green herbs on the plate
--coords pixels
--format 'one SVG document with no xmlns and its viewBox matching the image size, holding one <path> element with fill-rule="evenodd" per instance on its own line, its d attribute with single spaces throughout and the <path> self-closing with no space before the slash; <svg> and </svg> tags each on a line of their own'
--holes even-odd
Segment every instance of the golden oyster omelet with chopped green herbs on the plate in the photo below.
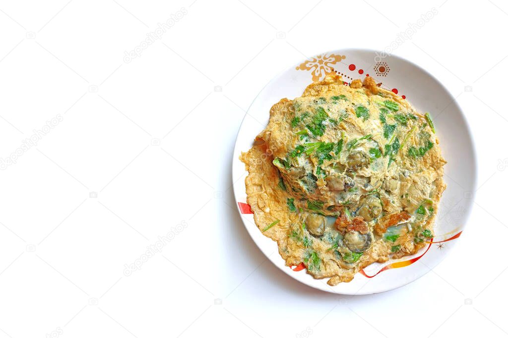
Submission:
<svg viewBox="0 0 508 338">
<path fill-rule="evenodd" d="M 240 160 L 260 231 L 287 266 L 332 286 L 423 248 L 446 189 L 429 114 L 370 77 L 331 75 L 281 99 Z"/>
</svg>

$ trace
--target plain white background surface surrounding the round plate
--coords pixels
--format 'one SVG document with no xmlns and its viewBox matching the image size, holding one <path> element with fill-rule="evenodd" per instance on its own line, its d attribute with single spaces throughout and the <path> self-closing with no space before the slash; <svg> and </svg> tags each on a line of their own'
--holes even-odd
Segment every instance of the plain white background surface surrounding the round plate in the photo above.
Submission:
<svg viewBox="0 0 508 338">
<path fill-rule="evenodd" d="M 284 68 L 383 50 L 433 7 L 393 53 L 449 88 L 472 127 L 479 190 L 466 231 L 393 291 L 302 285 L 259 251 L 235 206 L 245 110 Z M 1 2 L 0 157 L 62 121 L 0 164 L 0 337 L 508 334 L 507 12 L 499 0 Z"/>
</svg>

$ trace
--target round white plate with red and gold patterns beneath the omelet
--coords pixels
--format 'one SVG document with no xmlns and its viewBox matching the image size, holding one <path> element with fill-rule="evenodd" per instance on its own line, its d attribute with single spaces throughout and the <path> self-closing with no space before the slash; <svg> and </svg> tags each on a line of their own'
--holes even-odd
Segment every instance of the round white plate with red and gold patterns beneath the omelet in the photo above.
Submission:
<svg viewBox="0 0 508 338">
<path fill-rule="evenodd" d="M 380 86 L 392 90 L 420 112 L 428 111 L 434 120 L 444 166 L 447 189 L 439 202 L 432 243 L 417 254 L 384 264 L 374 263 L 355 275 L 349 283 L 329 286 L 328 279 L 314 279 L 300 267 L 287 267 L 278 254 L 277 244 L 265 237 L 254 223 L 246 204 L 244 164 L 241 152 L 252 146 L 254 138 L 268 124 L 270 107 L 281 98 L 301 96 L 307 85 L 338 73 L 350 83 L 372 77 Z M 259 93 L 240 126 L 233 155 L 234 194 L 243 223 L 252 240 L 280 270 L 296 280 L 324 291 L 340 294 L 370 294 L 410 283 L 434 268 L 459 240 L 471 210 L 477 180 L 476 157 L 471 133 L 464 115 L 450 92 L 431 74 L 397 56 L 363 49 L 343 49 L 316 55 L 282 72 Z M 421 264 L 423 263 L 423 264 Z"/>
</svg>

